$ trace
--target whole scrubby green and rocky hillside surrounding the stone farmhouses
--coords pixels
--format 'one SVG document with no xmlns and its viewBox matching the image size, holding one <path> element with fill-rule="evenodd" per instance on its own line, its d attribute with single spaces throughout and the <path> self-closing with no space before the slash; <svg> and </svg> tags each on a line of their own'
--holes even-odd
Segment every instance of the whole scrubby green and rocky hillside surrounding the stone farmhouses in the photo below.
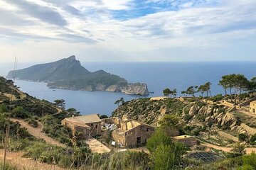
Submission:
<svg viewBox="0 0 256 170">
<path fill-rule="evenodd" d="M 54 169 L 159 169 L 156 165 L 166 165 L 169 155 L 173 154 L 177 162 L 169 165 L 179 169 L 209 169 L 209 166 L 211 169 L 225 169 L 226 164 L 239 160 L 232 164 L 236 169 L 247 164 L 244 162 L 245 158 L 255 157 L 254 154 L 241 156 L 238 152 L 233 153 L 230 146 L 245 139 L 245 151 L 250 153 L 256 150 L 253 147 L 255 143 L 248 143 L 248 139 L 250 142 L 254 139 L 250 132 L 255 132 L 256 115 L 249 117 L 239 110 L 231 112 L 230 108 L 220 101 L 211 101 L 213 98 L 208 98 L 208 101 L 204 98 L 189 98 L 184 101 L 181 98 L 140 98 L 125 102 L 112 113 L 112 116 L 128 115 L 134 120 L 158 126 L 156 135 L 148 141 L 151 145 L 128 151 L 121 149 L 122 152 L 114 147 L 113 152 L 94 154 L 85 140 L 80 138 L 79 133 L 73 136 L 69 128 L 60 124 L 63 118 L 78 115 L 73 109 L 70 113 L 70 110 L 65 111 L 65 108 L 59 108 L 54 103 L 33 98 L 18 90 L 12 81 L 4 77 L 0 77 L 0 86 L 0 133 L 6 132 L 7 123 L 11 125 L 7 158 L 23 162 L 14 162 L 11 166 L 15 169 L 36 167 L 26 164 L 40 164 L 41 167 L 38 169 L 50 166 L 56 166 Z M 13 99 L 11 106 L 10 99 Z M 171 137 L 175 134 L 193 135 L 199 140 L 199 144 L 194 147 L 183 147 L 179 142 L 171 142 Z M 3 135 L 0 135 L 0 140 L 4 141 Z M 152 148 L 156 148 L 154 152 L 140 152 L 150 149 L 152 142 Z M 170 147 L 163 147 L 162 142 L 168 142 L 166 145 Z M 161 147 L 158 146 L 163 148 L 159 150 Z M 190 158 L 191 153 L 210 153 L 209 148 L 213 148 L 210 150 L 213 155 L 223 160 L 210 160 L 210 163 Z M 223 153 L 220 150 L 231 153 Z M 3 144 L 0 144 L 0 152 L 4 152 Z M 164 160 L 154 159 L 162 158 L 162 155 L 165 155 Z M 235 158 L 224 159 L 225 157 Z"/>
</svg>

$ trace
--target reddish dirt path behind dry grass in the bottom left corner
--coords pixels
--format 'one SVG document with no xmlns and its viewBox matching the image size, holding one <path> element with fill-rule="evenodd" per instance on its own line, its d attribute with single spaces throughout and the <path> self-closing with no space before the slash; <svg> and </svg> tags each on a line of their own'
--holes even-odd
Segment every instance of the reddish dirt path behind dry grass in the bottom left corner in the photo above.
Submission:
<svg viewBox="0 0 256 170">
<path fill-rule="evenodd" d="M 36 162 L 29 158 L 22 157 L 22 152 L 7 152 L 7 162 L 18 167 L 18 169 L 35 169 L 35 170 L 64 170 L 56 165 Z M 4 149 L 0 149 L 0 161 L 4 159 Z"/>
</svg>

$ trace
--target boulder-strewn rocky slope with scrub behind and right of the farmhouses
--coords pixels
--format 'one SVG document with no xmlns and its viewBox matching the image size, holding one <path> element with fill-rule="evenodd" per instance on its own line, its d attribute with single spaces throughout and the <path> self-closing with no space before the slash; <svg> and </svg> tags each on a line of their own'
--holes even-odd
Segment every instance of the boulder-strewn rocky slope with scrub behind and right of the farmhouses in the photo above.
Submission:
<svg viewBox="0 0 256 170">
<path fill-rule="evenodd" d="M 256 115 L 247 115 L 241 109 L 233 109 L 220 102 L 206 101 L 203 98 L 191 98 L 181 101 L 179 98 L 150 100 L 140 98 L 119 106 L 112 116 L 129 115 L 151 125 L 158 125 L 167 115 L 175 115 L 180 127 L 187 134 L 196 135 L 215 145 L 230 146 L 239 142 L 240 134 L 250 146 L 249 139 L 255 135 Z"/>
</svg>

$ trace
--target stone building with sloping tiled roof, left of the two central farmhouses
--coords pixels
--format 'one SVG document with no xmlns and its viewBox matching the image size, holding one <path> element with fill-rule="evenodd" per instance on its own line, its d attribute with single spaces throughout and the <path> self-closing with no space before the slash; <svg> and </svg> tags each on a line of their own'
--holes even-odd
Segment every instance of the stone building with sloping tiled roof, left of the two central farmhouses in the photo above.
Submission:
<svg viewBox="0 0 256 170">
<path fill-rule="evenodd" d="M 75 135 L 75 132 L 82 132 L 84 137 L 94 137 L 102 133 L 102 120 L 97 114 L 65 118 L 61 121 L 61 124 L 71 128 L 73 135 Z"/>
</svg>

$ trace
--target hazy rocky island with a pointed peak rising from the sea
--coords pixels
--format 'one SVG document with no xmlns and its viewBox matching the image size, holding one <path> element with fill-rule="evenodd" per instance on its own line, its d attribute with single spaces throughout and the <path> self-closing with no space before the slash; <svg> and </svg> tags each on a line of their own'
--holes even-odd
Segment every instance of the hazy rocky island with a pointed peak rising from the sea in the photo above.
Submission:
<svg viewBox="0 0 256 170">
<path fill-rule="evenodd" d="M 14 71 L 6 78 L 11 79 Z M 47 82 L 52 89 L 71 89 L 84 91 L 116 91 L 125 94 L 149 94 L 146 84 L 129 84 L 126 79 L 110 74 L 104 70 L 89 72 L 82 67 L 75 56 L 57 62 L 36 64 L 15 72 L 16 79 Z"/>
</svg>

